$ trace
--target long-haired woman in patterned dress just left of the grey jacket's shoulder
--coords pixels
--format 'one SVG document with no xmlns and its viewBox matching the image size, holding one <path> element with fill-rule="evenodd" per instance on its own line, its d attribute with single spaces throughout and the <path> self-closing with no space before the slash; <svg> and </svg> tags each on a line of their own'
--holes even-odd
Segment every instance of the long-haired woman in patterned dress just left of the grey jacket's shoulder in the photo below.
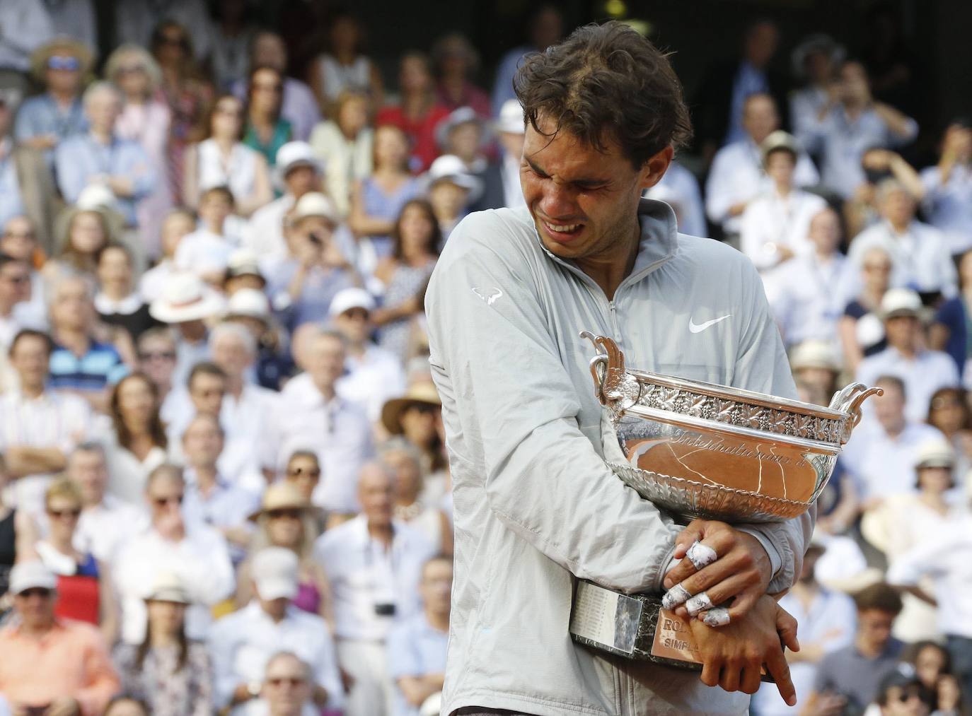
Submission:
<svg viewBox="0 0 972 716">
<path fill-rule="evenodd" d="M 392 255 L 375 268 L 385 300 L 371 320 L 380 327 L 381 347 L 399 359 L 405 358 L 411 320 L 424 311 L 421 295 L 432 276 L 440 241 L 432 206 L 425 199 L 412 199 L 392 229 Z"/>
</svg>

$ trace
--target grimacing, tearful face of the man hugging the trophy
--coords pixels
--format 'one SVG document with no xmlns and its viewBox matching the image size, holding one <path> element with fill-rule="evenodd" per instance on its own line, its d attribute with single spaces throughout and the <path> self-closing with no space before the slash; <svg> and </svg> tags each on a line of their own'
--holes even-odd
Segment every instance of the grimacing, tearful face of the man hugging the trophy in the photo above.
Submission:
<svg viewBox="0 0 972 716">
<path fill-rule="evenodd" d="M 553 121 L 540 117 L 543 132 Z M 561 258 L 610 259 L 638 230 L 642 190 L 661 178 L 636 170 L 611 140 L 605 153 L 567 132 L 552 138 L 530 124 L 524 136 L 520 182 L 543 246 Z"/>
</svg>

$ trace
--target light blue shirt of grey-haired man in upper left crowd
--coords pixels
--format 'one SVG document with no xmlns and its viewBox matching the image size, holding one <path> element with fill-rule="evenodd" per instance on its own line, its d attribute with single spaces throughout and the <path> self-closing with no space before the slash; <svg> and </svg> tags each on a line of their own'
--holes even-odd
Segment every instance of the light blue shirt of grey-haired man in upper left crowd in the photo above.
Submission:
<svg viewBox="0 0 972 716">
<path fill-rule="evenodd" d="M 156 170 L 137 142 L 114 138 L 108 145 L 90 134 L 81 134 L 61 142 L 54 153 L 57 187 L 68 203 L 78 200 L 91 177 L 105 174 L 124 177 L 132 182 L 132 195 L 119 196 L 118 205 L 125 222 L 134 226 L 135 206 L 156 187 Z"/>
</svg>

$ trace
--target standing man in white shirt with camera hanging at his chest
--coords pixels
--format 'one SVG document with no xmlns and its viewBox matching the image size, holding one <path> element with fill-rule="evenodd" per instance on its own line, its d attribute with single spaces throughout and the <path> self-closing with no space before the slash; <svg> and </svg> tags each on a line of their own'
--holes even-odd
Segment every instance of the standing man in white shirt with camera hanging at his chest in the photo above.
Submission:
<svg viewBox="0 0 972 716">
<path fill-rule="evenodd" d="M 362 467 L 362 514 L 318 538 L 317 559 L 334 592 L 334 634 L 341 668 L 353 679 L 348 716 L 383 716 L 393 695 L 386 639 L 419 612 L 422 565 L 434 550 L 418 531 L 393 521 L 394 482 L 380 463 Z M 369 580 L 358 576 L 363 570 Z"/>
</svg>

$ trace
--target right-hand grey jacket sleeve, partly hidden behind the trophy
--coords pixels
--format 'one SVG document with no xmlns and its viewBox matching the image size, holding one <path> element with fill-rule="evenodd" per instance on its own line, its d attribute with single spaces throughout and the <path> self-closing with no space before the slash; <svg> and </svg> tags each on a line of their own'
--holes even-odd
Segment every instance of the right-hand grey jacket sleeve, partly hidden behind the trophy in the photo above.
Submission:
<svg viewBox="0 0 972 716">
<path fill-rule="evenodd" d="M 751 265 L 744 272 L 744 283 L 743 302 L 749 306 L 749 322 L 740 342 L 732 385 L 747 391 L 795 397 L 796 386 L 780 330 L 773 320 L 759 274 Z M 770 594 L 789 589 L 800 575 L 815 523 L 816 504 L 787 522 L 739 526 L 755 536 L 770 556 L 773 564 Z"/>
</svg>

